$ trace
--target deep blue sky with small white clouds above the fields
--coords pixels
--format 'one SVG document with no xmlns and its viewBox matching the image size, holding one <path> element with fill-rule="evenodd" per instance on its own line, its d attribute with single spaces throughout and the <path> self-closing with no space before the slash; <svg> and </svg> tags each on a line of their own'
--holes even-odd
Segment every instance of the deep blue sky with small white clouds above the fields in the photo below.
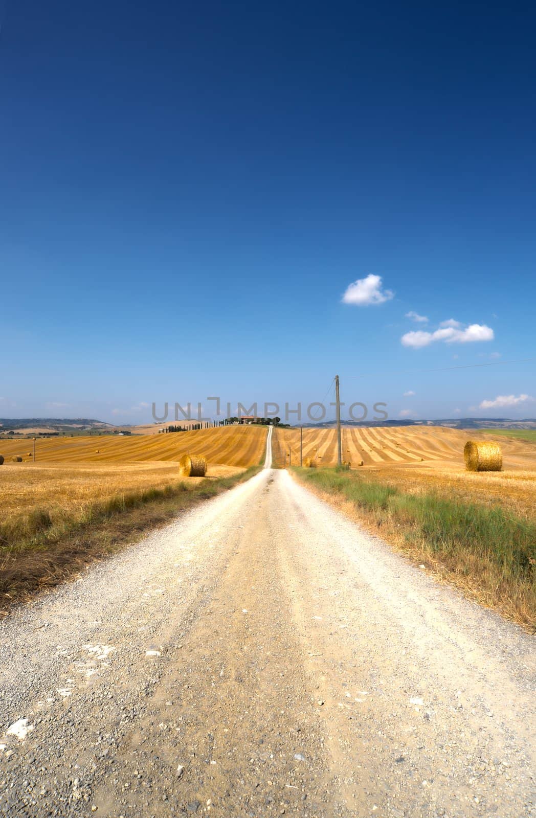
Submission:
<svg viewBox="0 0 536 818">
<path fill-rule="evenodd" d="M 305 406 L 336 372 L 393 418 L 536 416 L 534 361 L 420 371 L 536 357 L 534 6 L 0 22 L 0 416 Z"/>
</svg>

